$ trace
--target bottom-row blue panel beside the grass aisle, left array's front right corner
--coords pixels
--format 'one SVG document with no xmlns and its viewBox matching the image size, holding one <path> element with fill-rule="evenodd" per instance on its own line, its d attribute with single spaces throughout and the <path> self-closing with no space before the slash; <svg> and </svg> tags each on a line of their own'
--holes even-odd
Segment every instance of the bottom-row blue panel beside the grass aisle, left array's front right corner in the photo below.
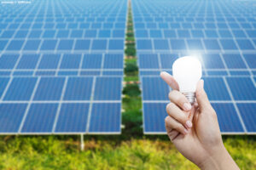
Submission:
<svg viewBox="0 0 256 170">
<path fill-rule="evenodd" d="M 120 103 L 93 104 L 89 133 L 120 133 L 120 111 Z"/>
</svg>

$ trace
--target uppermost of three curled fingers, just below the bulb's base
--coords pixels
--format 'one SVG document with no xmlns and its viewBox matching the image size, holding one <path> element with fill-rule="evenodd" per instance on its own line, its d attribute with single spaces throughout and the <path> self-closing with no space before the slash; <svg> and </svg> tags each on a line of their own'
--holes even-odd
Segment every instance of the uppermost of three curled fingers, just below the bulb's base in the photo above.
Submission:
<svg viewBox="0 0 256 170">
<path fill-rule="evenodd" d="M 192 108 L 189 100 L 177 90 L 172 90 L 172 92 L 169 93 L 169 99 L 172 103 L 178 105 L 181 109 L 183 109 L 183 111 L 190 111 Z"/>
</svg>

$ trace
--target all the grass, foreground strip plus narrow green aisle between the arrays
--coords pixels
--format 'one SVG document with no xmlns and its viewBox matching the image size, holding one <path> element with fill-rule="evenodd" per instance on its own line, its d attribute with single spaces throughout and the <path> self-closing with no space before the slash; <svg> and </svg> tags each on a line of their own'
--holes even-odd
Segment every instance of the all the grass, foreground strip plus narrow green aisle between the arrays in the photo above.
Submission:
<svg viewBox="0 0 256 170">
<path fill-rule="evenodd" d="M 125 39 L 134 41 L 131 8 Z M 127 44 L 125 82 L 139 81 L 135 43 Z M 137 84 L 125 85 L 121 135 L 2 136 L 0 169 L 198 169 L 185 159 L 166 135 L 144 136 L 142 99 Z M 255 136 L 224 136 L 224 145 L 241 169 L 256 169 Z"/>
</svg>

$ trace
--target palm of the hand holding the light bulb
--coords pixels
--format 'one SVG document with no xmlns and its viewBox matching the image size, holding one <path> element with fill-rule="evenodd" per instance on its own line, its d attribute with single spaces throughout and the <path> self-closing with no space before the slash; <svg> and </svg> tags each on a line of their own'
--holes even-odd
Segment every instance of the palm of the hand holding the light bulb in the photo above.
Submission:
<svg viewBox="0 0 256 170">
<path fill-rule="evenodd" d="M 211 154 L 211 149 L 221 142 L 220 135 L 216 131 L 218 126 L 217 116 L 212 116 L 207 113 L 202 113 L 199 108 L 195 107 L 190 111 L 189 116 L 193 120 L 193 127 L 189 129 L 187 135 L 177 133 L 177 136 L 172 139 L 173 144 L 177 147 L 183 156 L 187 157 L 190 161 L 195 163 L 204 159 L 205 156 Z M 217 123 L 216 123 L 217 122 Z M 207 125 L 207 126 L 206 126 Z"/>
</svg>

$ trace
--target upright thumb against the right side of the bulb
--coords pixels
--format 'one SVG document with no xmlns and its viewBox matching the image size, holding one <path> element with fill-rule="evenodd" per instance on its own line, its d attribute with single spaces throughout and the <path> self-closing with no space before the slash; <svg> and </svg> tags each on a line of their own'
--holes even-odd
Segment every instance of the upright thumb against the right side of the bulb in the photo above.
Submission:
<svg viewBox="0 0 256 170">
<path fill-rule="evenodd" d="M 198 103 L 199 108 L 201 111 L 208 109 L 211 107 L 211 104 L 209 102 L 209 99 L 207 97 L 207 93 L 204 90 L 204 81 L 200 80 L 197 83 L 197 88 L 195 92 L 196 101 Z"/>
</svg>

